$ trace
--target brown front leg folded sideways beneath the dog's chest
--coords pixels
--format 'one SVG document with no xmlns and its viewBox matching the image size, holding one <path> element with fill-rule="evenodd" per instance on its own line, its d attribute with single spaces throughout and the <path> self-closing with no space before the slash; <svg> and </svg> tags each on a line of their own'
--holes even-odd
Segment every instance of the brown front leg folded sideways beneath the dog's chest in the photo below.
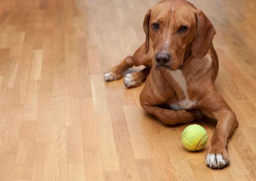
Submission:
<svg viewBox="0 0 256 181">
<path fill-rule="evenodd" d="M 162 123 L 168 125 L 190 123 L 194 120 L 201 119 L 202 114 L 198 110 L 167 110 L 158 106 L 151 106 L 147 104 L 141 104 L 141 106 L 149 114 L 157 117 Z"/>
</svg>

